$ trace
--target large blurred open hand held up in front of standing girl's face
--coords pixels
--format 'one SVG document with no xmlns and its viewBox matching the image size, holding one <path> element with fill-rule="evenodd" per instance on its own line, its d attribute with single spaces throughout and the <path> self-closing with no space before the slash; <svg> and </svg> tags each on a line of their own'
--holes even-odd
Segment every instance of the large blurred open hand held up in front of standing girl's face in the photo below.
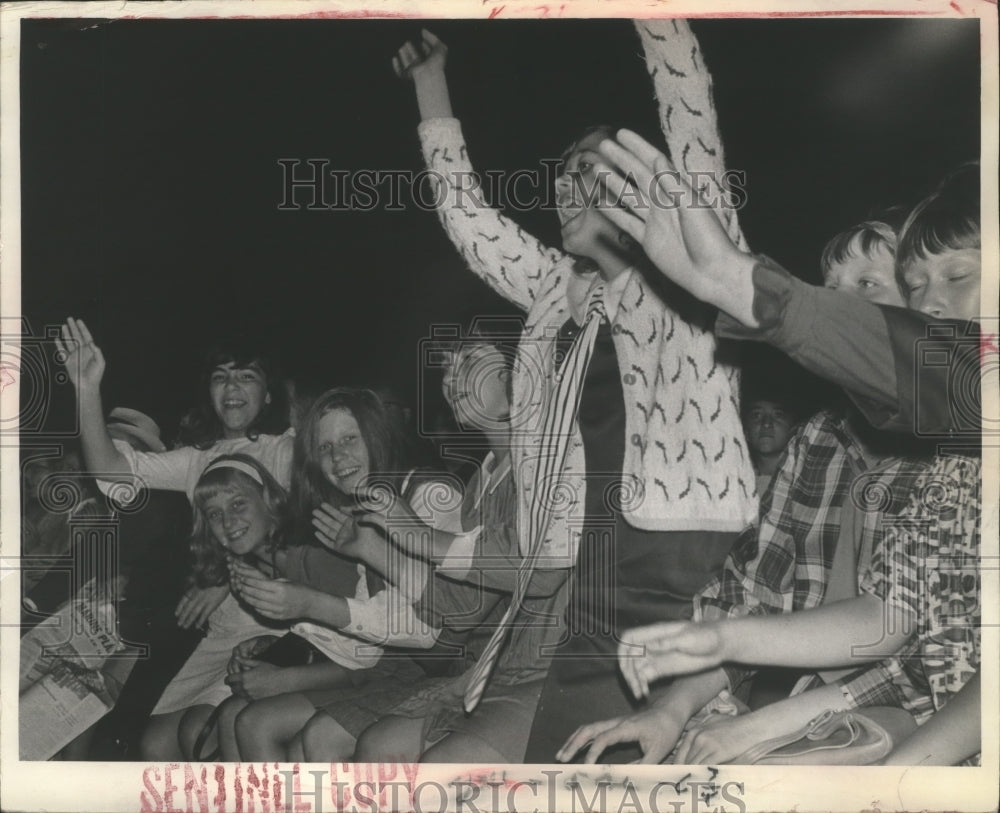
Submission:
<svg viewBox="0 0 1000 813">
<path fill-rule="evenodd" d="M 607 164 L 598 164 L 598 174 L 611 193 L 604 199 L 619 204 L 602 205 L 608 219 L 638 241 L 673 282 L 755 326 L 754 259 L 730 239 L 713 201 L 631 130 L 602 142 L 600 151 Z"/>
</svg>

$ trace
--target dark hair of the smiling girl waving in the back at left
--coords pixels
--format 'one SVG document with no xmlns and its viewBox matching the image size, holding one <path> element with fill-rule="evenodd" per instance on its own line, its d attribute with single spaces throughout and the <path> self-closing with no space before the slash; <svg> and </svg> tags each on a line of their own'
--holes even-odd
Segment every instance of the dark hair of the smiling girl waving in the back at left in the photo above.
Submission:
<svg viewBox="0 0 1000 813">
<path fill-rule="evenodd" d="M 271 396 L 260 414 L 247 428 L 247 437 L 256 439 L 259 435 L 280 435 L 288 428 L 288 405 L 285 388 L 277 375 L 270 355 L 254 342 L 244 337 L 228 339 L 212 347 L 205 355 L 201 374 L 201 403 L 189 410 L 181 418 L 176 446 L 194 446 L 208 449 L 224 436 L 222 421 L 209 399 L 209 384 L 212 373 L 218 367 L 232 364 L 240 370 L 254 368 L 264 376 L 264 386 Z"/>
</svg>

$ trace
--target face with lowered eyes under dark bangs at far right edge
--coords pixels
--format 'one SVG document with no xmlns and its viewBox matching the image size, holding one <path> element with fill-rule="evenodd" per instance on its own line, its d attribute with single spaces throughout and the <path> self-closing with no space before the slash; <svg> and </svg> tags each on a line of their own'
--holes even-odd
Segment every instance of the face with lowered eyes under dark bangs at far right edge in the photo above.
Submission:
<svg viewBox="0 0 1000 813">
<path fill-rule="evenodd" d="M 982 254 L 963 248 L 915 257 L 903 272 L 907 306 L 943 319 L 979 319 Z"/>
</svg>

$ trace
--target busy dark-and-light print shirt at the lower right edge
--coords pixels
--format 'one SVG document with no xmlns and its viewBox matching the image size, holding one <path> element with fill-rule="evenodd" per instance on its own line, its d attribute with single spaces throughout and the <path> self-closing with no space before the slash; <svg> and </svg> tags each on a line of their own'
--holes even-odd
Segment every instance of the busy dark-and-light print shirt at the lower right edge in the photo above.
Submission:
<svg viewBox="0 0 1000 813">
<path fill-rule="evenodd" d="M 838 685 L 850 706 L 902 706 L 923 723 L 979 668 L 981 462 L 899 461 L 878 482 L 891 505 L 878 512 L 861 589 L 904 609 L 914 634 Z"/>
</svg>

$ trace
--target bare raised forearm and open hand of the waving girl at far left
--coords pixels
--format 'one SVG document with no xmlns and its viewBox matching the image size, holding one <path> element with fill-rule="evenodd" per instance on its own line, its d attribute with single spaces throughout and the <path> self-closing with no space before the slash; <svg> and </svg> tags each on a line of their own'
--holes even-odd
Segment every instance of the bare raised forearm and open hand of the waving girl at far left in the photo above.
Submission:
<svg viewBox="0 0 1000 813">
<path fill-rule="evenodd" d="M 128 461 L 108 434 L 101 403 L 101 380 L 104 378 L 104 354 L 81 319 L 72 316 L 62 326 L 56 348 L 63 355 L 66 374 L 76 390 L 80 414 L 80 446 L 87 471 L 102 479 L 125 477 L 132 473 Z"/>
</svg>

